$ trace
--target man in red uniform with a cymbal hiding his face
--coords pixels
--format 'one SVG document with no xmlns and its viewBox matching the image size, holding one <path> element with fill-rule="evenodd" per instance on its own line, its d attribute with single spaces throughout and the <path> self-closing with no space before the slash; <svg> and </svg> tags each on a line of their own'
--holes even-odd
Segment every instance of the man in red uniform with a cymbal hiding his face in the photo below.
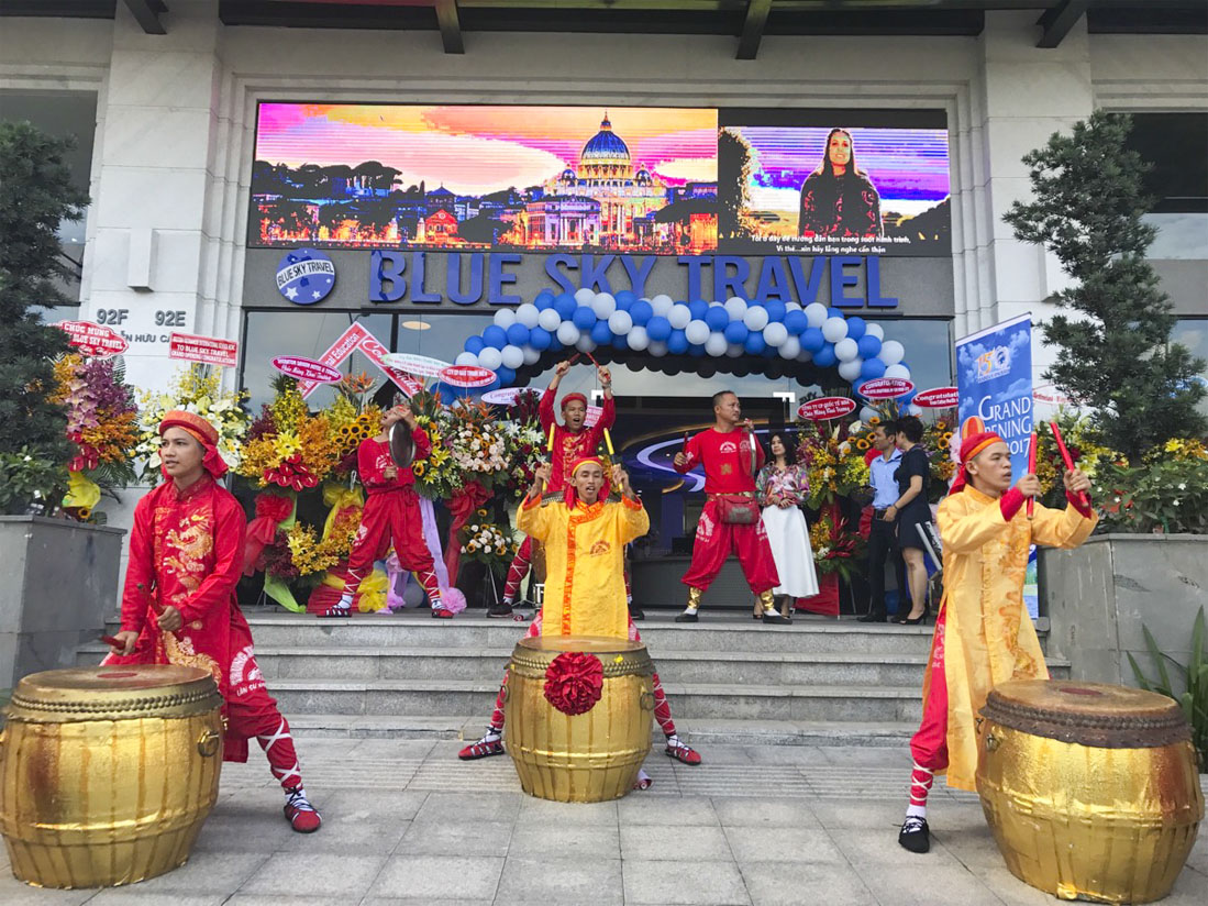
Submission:
<svg viewBox="0 0 1208 906">
<path fill-rule="evenodd" d="M 416 494 L 416 472 L 411 466 L 400 469 L 390 458 L 390 429 L 396 422 L 403 422 L 411 428 L 416 459 L 426 459 L 432 452 L 428 432 L 419 426 L 411 406 L 405 402 L 382 414 L 382 434 L 361 441 L 356 449 L 356 472 L 366 492 L 361 527 L 356 530 L 353 550 L 348 554 L 344 593 L 323 616 L 352 615 L 358 586 L 372 571 L 373 561 L 385 557 L 391 542 L 399 565 L 413 573 L 428 593 L 428 599 L 432 603 L 432 616 L 443 620 L 453 616 L 453 611 L 441 599 L 435 562 L 424 541 L 424 517 L 419 512 L 419 496 Z"/>
</svg>

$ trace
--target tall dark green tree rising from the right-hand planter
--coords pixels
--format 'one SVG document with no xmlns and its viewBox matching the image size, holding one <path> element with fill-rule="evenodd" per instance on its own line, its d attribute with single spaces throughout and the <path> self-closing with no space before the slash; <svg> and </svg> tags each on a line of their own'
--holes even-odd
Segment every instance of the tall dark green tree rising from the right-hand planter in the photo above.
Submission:
<svg viewBox="0 0 1208 906">
<path fill-rule="evenodd" d="M 1094 111 L 1070 135 L 1055 133 L 1024 156 L 1034 192 L 1004 216 L 1020 239 L 1039 243 L 1074 279 L 1049 301 L 1076 316 L 1055 315 L 1041 330 L 1061 353 L 1045 372 L 1063 393 L 1093 410 L 1107 446 L 1129 460 L 1167 437 L 1198 437 L 1196 411 L 1204 362 L 1172 344 L 1169 298 L 1145 260 L 1155 231 L 1142 221 L 1152 201 L 1148 165 L 1125 147 L 1127 115 Z"/>
</svg>

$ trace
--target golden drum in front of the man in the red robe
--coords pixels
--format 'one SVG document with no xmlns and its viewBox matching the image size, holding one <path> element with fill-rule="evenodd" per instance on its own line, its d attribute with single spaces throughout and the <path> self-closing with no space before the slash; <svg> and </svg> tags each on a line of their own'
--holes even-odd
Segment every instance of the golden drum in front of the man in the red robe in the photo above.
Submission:
<svg viewBox="0 0 1208 906">
<path fill-rule="evenodd" d="M 214 807 L 222 697 L 192 667 L 25 676 L 5 709 L 0 834 L 13 875 L 110 887 L 188 859 Z"/>
</svg>

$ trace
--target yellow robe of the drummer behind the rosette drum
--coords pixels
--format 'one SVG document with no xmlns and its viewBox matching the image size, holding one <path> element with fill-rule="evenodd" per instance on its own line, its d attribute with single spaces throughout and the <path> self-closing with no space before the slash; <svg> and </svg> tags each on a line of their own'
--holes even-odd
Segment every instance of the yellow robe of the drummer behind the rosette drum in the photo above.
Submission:
<svg viewBox="0 0 1208 906">
<path fill-rule="evenodd" d="M 542 635 L 629 638 L 625 600 L 625 546 L 650 530 L 637 500 L 576 501 L 574 510 L 541 498 L 525 500 L 516 528 L 545 545 Z"/>
</svg>

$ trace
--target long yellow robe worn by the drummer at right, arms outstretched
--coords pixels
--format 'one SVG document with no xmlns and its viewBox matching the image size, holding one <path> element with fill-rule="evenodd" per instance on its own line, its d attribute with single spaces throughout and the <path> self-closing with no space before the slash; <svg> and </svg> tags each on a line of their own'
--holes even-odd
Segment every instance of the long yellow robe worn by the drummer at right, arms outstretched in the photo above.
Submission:
<svg viewBox="0 0 1208 906">
<path fill-rule="evenodd" d="M 1023 606 L 1028 546 L 1078 547 L 1098 517 L 1092 511 L 1087 518 L 1070 505 L 1050 510 L 1038 503 L 1030 522 L 1026 507 L 1007 522 L 997 498 L 966 486 L 943 499 L 937 522 L 946 618 L 936 627 L 931 650 L 933 657 L 937 647 L 942 651 L 948 687 L 948 785 L 975 790 L 976 718 L 986 696 L 1006 680 L 1049 679 Z M 924 701 L 925 693 L 924 684 Z"/>
</svg>

